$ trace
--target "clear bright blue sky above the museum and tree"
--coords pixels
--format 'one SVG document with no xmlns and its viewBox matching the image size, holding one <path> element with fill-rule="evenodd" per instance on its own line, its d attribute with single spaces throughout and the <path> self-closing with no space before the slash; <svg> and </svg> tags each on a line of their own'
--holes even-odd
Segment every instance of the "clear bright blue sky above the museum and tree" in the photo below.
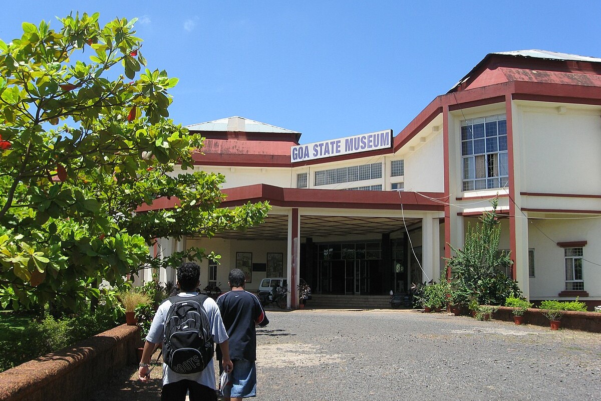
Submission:
<svg viewBox="0 0 601 401">
<path fill-rule="evenodd" d="M 601 57 L 596 1 L 11 2 L 0 38 L 71 10 L 138 17 L 151 69 L 180 78 L 171 117 L 240 115 L 301 143 L 400 132 L 486 54 L 543 49 Z"/>
</svg>

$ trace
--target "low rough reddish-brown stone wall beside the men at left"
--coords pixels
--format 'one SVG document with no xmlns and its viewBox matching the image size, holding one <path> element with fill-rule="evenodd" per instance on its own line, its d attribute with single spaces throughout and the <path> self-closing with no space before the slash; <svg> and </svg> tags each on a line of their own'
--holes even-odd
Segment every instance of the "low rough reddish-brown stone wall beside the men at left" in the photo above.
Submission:
<svg viewBox="0 0 601 401">
<path fill-rule="evenodd" d="M 138 326 L 121 325 L 0 373 L 0 401 L 81 401 L 136 363 Z"/>
</svg>

